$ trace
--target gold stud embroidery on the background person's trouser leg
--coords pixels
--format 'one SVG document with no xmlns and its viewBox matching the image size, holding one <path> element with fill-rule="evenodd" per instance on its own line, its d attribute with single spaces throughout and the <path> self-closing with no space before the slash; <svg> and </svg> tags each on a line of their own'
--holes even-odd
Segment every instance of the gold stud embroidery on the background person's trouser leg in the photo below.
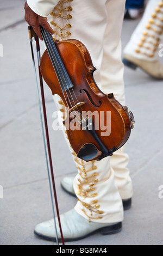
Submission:
<svg viewBox="0 0 163 256">
<path fill-rule="evenodd" d="M 152 18 L 146 26 L 146 31 L 143 32 L 143 37 L 138 44 L 138 48 L 135 49 L 136 53 L 143 54 L 149 58 L 154 57 L 160 41 L 159 35 L 163 32 L 162 8 L 163 0 L 155 8 L 155 13 L 152 14 Z"/>
</svg>

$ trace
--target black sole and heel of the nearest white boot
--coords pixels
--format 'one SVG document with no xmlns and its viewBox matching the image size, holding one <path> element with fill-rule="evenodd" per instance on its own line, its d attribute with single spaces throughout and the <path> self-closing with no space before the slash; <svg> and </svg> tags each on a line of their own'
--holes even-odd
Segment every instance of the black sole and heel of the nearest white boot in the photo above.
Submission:
<svg viewBox="0 0 163 256">
<path fill-rule="evenodd" d="M 78 241 L 78 240 L 82 240 L 87 236 L 93 235 L 95 233 L 97 233 L 97 231 L 100 231 L 102 235 L 113 235 L 113 234 L 117 234 L 122 230 L 122 222 L 119 222 L 117 224 L 114 225 L 110 225 L 108 227 L 104 227 L 104 228 L 99 228 L 89 234 L 86 234 L 84 236 L 80 236 L 80 237 L 74 237 L 74 238 L 64 238 L 65 242 L 72 242 L 72 241 Z M 53 241 L 53 242 L 57 242 L 56 237 L 49 237 L 46 235 L 42 235 L 40 233 L 37 233 L 34 230 L 34 234 L 39 236 L 42 239 L 48 240 L 48 241 Z M 62 239 L 60 237 L 58 237 L 58 242 L 62 242 Z"/>
</svg>

